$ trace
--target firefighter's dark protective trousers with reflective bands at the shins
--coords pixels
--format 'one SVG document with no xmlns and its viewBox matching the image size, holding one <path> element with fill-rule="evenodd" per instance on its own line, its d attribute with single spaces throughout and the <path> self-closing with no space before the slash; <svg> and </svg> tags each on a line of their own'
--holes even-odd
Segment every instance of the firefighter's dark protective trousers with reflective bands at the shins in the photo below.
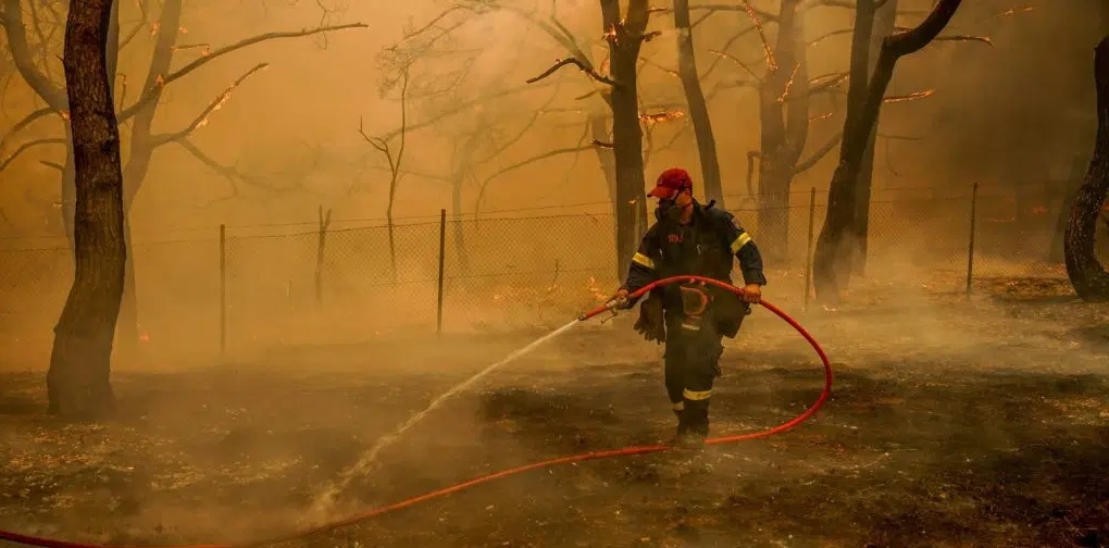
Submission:
<svg viewBox="0 0 1109 548">
<path fill-rule="evenodd" d="M 676 312 L 676 311 L 675 311 Z M 678 435 L 709 435 L 709 400 L 720 376 L 723 336 L 705 316 L 667 314 L 667 392 L 678 416 Z"/>
</svg>

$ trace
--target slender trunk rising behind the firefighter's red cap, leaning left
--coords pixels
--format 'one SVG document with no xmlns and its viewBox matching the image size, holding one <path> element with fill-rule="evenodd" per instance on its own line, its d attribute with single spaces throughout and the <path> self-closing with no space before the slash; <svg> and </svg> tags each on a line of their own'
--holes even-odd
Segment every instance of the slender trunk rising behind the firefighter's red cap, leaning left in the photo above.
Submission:
<svg viewBox="0 0 1109 548">
<path fill-rule="evenodd" d="M 709 104 L 704 100 L 701 77 L 696 70 L 689 0 L 674 0 L 674 28 L 678 29 L 678 77 L 685 91 L 685 104 L 689 106 L 690 122 L 693 123 L 693 135 L 696 138 L 704 197 L 715 200 L 723 207 L 724 190 L 720 179 L 720 162 L 716 159 L 716 139 L 712 134 Z"/>
</svg>

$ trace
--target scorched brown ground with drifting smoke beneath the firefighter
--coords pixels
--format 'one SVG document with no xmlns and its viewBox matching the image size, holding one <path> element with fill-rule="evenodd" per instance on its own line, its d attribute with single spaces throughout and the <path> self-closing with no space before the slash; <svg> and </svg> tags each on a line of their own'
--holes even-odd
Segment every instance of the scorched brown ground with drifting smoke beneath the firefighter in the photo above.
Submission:
<svg viewBox="0 0 1109 548">
<path fill-rule="evenodd" d="M 793 430 L 696 457 L 527 471 L 304 542 L 1109 546 L 1109 307 L 1074 302 L 1058 280 L 979 285 L 970 302 L 855 296 L 855 307 L 801 316 L 836 377 L 831 400 Z M 629 319 L 571 331 L 444 403 L 380 453 L 333 517 L 668 436 L 659 351 Z M 529 338 L 284 349 L 121 373 L 120 417 L 99 425 L 43 416 L 43 375 L 6 374 L 0 528 L 130 545 L 279 535 L 375 439 Z M 722 366 L 713 435 L 788 420 L 822 386 L 812 352 L 765 311 Z"/>
</svg>

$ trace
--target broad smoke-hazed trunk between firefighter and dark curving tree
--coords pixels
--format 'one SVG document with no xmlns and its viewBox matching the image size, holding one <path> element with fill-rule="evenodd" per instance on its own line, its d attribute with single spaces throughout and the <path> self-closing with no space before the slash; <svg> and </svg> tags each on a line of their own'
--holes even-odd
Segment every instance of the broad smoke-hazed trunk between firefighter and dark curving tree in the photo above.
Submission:
<svg viewBox="0 0 1109 548">
<path fill-rule="evenodd" d="M 808 140 L 808 63 L 800 3 L 782 0 L 777 41 L 759 88 L 759 245 L 774 262 L 788 256 L 790 187 Z"/>
</svg>

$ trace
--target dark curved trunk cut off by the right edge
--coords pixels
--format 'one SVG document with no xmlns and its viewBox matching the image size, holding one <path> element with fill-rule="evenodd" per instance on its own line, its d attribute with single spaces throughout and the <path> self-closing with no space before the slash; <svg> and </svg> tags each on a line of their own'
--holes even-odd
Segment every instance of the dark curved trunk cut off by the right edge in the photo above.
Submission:
<svg viewBox="0 0 1109 548">
<path fill-rule="evenodd" d="M 1093 79 L 1097 85 L 1098 134 L 1086 181 L 1070 210 L 1064 236 L 1067 276 L 1075 293 L 1086 302 L 1109 301 L 1109 273 L 1093 250 L 1097 223 L 1109 192 L 1109 37 L 1093 53 Z"/>
</svg>

